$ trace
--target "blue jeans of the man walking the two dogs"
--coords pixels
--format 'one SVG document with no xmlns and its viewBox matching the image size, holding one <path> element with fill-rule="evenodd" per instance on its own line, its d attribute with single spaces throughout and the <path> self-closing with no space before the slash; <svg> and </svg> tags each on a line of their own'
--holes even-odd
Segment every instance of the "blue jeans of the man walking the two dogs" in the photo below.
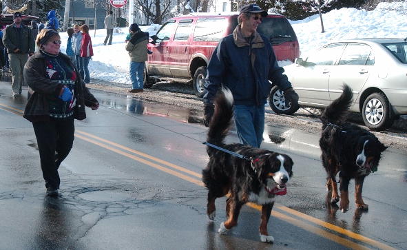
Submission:
<svg viewBox="0 0 407 250">
<path fill-rule="evenodd" d="M 240 142 L 260 147 L 264 132 L 264 104 L 259 106 L 235 105 L 233 117 Z"/>
</svg>

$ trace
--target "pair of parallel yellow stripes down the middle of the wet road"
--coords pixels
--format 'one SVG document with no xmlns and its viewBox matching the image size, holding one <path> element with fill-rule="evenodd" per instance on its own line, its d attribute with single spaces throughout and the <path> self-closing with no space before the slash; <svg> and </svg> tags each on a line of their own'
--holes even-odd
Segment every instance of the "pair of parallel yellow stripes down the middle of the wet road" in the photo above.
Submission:
<svg viewBox="0 0 407 250">
<path fill-rule="evenodd" d="M 3 105 L 1 103 L 0 106 L 1 110 L 6 110 L 14 114 L 22 115 L 22 111 L 17 110 L 14 107 Z M 182 180 L 187 180 L 190 183 L 194 183 L 201 187 L 204 186 L 201 181 L 202 175 L 196 173 L 195 171 L 186 169 L 185 167 L 180 167 L 173 163 L 169 163 L 166 160 L 150 156 L 149 154 L 139 152 L 135 149 L 125 147 L 118 143 L 114 143 L 110 140 L 106 140 L 104 138 L 100 138 L 98 136 L 94 136 L 93 134 L 89 134 L 80 130 L 76 130 L 75 136 L 89 143 L 98 145 L 99 147 L 103 147 L 112 152 L 115 152 L 116 154 L 120 154 L 127 158 L 131 158 L 132 160 L 137 160 L 138 162 L 148 165 L 149 167 L 154 167 L 155 169 L 164 171 L 167 174 L 171 174 L 172 176 L 176 176 L 178 178 L 181 178 Z M 261 211 L 261 207 L 259 205 L 250 203 L 249 206 Z M 365 244 L 369 244 L 372 247 L 379 249 L 394 249 L 393 247 L 390 247 L 381 242 L 377 242 L 376 240 L 372 240 L 371 238 L 367 238 L 358 233 L 353 233 L 352 231 L 348 231 L 346 229 L 343 229 L 342 227 L 337 227 L 335 225 L 332 225 L 331 223 L 324 222 L 323 220 L 319 220 L 317 218 L 313 218 L 312 216 L 308 216 L 304 213 L 295 211 L 294 209 L 290 209 L 289 207 L 284 207 L 282 205 L 275 205 L 275 209 L 273 209 L 272 215 L 276 218 L 279 218 L 280 220 L 283 220 L 284 222 L 289 222 L 306 231 L 310 231 L 312 233 L 317 234 L 318 236 L 322 236 L 323 238 L 327 238 L 328 240 L 332 240 L 337 244 L 342 244 L 343 246 L 352 249 L 369 249 L 369 248 L 365 247 L 362 244 L 357 244 L 352 240 L 348 240 L 348 238 L 357 240 L 359 242 L 364 242 Z M 335 233 L 339 233 L 342 236 L 338 236 L 335 233 L 326 231 L 326 229 L 328 229 L 329 231 L 333 231 Z M 344 238 L 343 236 L 345 236 L 346 238 Z"/>
</svg>

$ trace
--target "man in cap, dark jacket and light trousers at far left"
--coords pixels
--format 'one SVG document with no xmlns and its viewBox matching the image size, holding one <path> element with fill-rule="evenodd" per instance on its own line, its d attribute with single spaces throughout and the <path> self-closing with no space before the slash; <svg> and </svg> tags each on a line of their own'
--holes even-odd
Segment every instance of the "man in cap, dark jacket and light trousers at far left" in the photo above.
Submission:
<svg viewBox="0 0 407 250">
<path fill-rule="evenodd" d="M 28 56 L 34 54 L 34 38 L 28 26 L 21 23 L 21 12 L 15 12 L 13 23 L 7 25 L 3 34 L 3 43 L 8 50 L 12 77 L 12 96 L 21 94 L 23 86 L 23 68 Z"/>
</svg>

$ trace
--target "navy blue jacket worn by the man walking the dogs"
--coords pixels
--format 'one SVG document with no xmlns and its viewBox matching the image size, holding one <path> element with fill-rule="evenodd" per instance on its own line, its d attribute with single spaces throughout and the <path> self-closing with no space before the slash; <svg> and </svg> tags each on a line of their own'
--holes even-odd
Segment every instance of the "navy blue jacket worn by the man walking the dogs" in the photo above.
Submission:
<svg viewBox="0 0 407 250">
<path fill-rule="evenodd" d="M 218 43 L 207 67 L 204 103 L 213 103 L 221 85 L 231 90 L 236 105 L 264 105 L 271 91 L 269 80 L 282 90 L 291 87 L 278 66 L 266 37 L 255 33 L 250 43 L 240 26 Z"/>
</svg>

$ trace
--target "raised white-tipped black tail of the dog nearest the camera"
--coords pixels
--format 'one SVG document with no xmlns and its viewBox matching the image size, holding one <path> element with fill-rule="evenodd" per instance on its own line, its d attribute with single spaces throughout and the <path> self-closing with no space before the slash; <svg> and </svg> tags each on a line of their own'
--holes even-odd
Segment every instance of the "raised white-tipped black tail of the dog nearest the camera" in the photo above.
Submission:
<svg viewBox="0 0 407 250">
<path fill-rule="evenodd" d="M 213 145 L 223 145 L 223 140 L 225 140 L 229 132 L 231 118 L 233 117 L 233 96 L 231 91 L 222 87 L 222 90 L 216 94 L 213 104 L 215 105 L 215 112 L 209 123 L 207 142 Z"/>
</svg>

